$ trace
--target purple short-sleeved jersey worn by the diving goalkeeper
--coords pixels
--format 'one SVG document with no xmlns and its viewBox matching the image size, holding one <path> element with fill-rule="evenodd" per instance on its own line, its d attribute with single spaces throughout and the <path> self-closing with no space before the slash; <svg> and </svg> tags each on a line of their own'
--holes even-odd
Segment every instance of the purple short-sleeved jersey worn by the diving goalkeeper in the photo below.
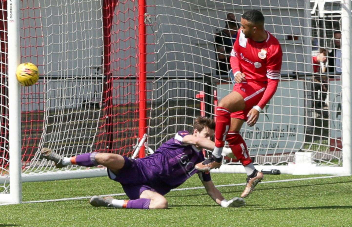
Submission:
<svg viewBox="0 0 352 227">
<path fill-rule="evenodd" d="M 183 137 L 188 131 L 179 131 L 175 137 L 163 143 L 154 154 L 137 159 L 143 178 L 153 188 L 171 190 L 180 186 L 189 177 L 199 173 L 195 164 L 204 161 L 202 151 L 195 146 L 184 144 Z M 210 173 L 201 173 L 203 181 L 210 181 Z"/>
</svg>

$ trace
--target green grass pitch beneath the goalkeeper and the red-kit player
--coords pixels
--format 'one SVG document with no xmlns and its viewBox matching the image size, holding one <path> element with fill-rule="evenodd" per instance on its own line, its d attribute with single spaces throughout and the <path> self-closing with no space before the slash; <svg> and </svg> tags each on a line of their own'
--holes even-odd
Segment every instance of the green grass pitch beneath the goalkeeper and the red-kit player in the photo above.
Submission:
<svg viewBox="0 0 352 227">
<path fill-rule="evenodd" d="M 245 174 L 212 174 L 215 185 L 244 183 Z M 264 181 L 313 176 L 265 175 Z M 180 188 L 201 186 L 197 176 Z M 166 210 L 92 207 L 88 199 L 0 206 L 0 226 L 351 226 L 352 176 L 260 183 L 247 205 L 222 208 L 205 189 L 172 191 Z M 219 187 L 224 197 L 244 186 Z M 23 201 L 123 193 L 108 177 L 23 183 Z M 124 199 L 126 196 L 115 196 Z"/>
</svg>

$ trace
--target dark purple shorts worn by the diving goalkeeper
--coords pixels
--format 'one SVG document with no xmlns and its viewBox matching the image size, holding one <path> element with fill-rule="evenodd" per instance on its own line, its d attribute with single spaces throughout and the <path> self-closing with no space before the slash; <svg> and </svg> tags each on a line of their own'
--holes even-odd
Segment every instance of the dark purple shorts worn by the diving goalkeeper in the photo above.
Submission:
<svg viewBox="0 0 352 227">
<path fill-rule="evenodd" d="M 126 195 L 131 200 L 139 199 L 140 194 L 145 190 L 157 192 L 165 195 L 170 190 L 154 189 L 150 186 L 148 179 L 146 179 L 143 170 L 138 166 L 136 160 L 124 156 L 125 164 L 120 169 L 118 174 L 114 174 L 108 169 L 108 176 L 111 180 L 117 181 L 121 184 Z"/>
</svg>

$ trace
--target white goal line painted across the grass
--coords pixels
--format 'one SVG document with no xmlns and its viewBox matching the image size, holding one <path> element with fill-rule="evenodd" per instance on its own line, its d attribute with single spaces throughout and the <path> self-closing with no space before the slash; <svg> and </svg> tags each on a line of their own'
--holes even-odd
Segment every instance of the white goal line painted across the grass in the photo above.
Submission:
<svg viewBox="0 0 352 227">
<path fill-rule="evenodd" d="M 287 180 L 277 180 L 277 181 L 264 181 L 264 182 L 261 182 L 260 184 L 280 183 L 280 182 L 290 182 L 290 181 L 302 181 L 302 180 L 315 180 L 315 179 L 327 179 L 327 178 L 334 178 L 334 177 L 341 177 L 341 176 L 348 176 L 348 175 L 318 176 L 318 177 L 307 177 L 307 178 L 297 178 L 297 179 L 287 179 Z M 215 187 L 220 188 L 220 187 L 231 187 L 231 186 L 241 186 L 241 185 L 246 185 L 246 183 L 222 184 L 222 185 L 216 185 Z M 175 188 L 175 189 L 172 189 L 171 191 L 184 191 L 184 190 L 202 189 L 202 188 L 204 188 L 204 187 L 201 186 L 201 187 L 190 187 L 190 188 Z M 126 195 L 126 194 L 125 193 L 118 193 L 118 194 L 108 194 L 108 195 L 100 195 L 100 196 L 120 196 L 120 195 Z M 82 196 L 82 197 L 72 197 L 72 198 L 63 198 L 63 199 L 52 199 L 52 200 L 25 201 L 25 202 L 22 202 L 22 203 L 58 202 L 58 201 L 69 201 L 69 200 L 82 200 L 82 199 L 89 199 L 90 197 L 92 197 L 92 196 Z M 4 204 L 0 204 L 0 206 L 10 205 L 10 204 L 11 203 L 4 203 Z"/>
</svg>

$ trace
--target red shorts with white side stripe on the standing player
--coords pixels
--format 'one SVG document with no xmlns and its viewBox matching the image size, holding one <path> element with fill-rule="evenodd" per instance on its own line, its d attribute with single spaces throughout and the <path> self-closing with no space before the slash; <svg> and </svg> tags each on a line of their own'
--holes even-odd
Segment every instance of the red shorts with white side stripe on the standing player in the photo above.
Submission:
<svg viewBox="0 0 352 227">
<path fill-rule="evenodd" d="M 244 119 L 247 121 L 248 112 L 257 105 L 263 97 L 267 83 L 242 82 L 236 83 L 232 91 L 237 91 L 243 97 L 246 107 L 244 110 L 231 113 L 232 118 Z"/>
</svg>

